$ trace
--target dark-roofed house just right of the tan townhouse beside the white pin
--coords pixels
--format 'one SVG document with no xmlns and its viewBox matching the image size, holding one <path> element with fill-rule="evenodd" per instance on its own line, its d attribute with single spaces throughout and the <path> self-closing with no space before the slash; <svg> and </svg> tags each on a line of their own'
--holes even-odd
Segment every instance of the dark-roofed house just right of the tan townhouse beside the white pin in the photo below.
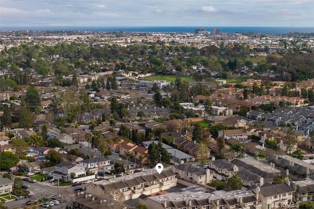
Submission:
<svg viewBox="0 0 314 209">
<path fill-rule="evenodd" d="M 227 181 L 230 176 L 235 175 L 239 171 L 235 164 L 222 159 L 211 161 L 208 165 L 209 169 L 214 172 L 214 178 L 219 181 Z"/>
</svg>

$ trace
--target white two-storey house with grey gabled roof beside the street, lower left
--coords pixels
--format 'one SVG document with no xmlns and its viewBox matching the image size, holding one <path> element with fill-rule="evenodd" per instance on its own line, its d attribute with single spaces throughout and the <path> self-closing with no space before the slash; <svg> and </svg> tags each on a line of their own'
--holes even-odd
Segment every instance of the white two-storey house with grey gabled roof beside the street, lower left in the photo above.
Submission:
<svg viewBox="0 0 314 209">
<path fill-rule="evenodd" d="M 61 162 L 54 166 L 55 170 L 50 172 L 50 177 L 53 179 L 70 180 L 71 173 L 75 173 L 76 177 L 86 175 L 85 167 L 75 163 Z"/>
</svg>

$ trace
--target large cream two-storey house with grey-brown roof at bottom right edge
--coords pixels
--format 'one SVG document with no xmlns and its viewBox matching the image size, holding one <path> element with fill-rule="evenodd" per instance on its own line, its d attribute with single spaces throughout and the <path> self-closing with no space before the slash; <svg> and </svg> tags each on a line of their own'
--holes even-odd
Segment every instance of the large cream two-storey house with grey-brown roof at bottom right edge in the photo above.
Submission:
<svg viewBox="0 0 314 209">
<path fill-rule="evenodd" d="M 288 182 L 290 184 L 290 182 Z M 263 209 L 290 208 L 292 207 L 293 189 L 288 184 L 265 184 L 257 187 L 255 192 L 259 194 Z"/>
</svg>

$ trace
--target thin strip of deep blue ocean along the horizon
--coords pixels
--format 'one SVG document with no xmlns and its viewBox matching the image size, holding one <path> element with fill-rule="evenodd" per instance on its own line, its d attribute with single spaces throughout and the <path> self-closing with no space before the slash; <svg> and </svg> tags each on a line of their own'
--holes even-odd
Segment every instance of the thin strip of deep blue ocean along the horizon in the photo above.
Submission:
<svg viewBox="0 0 314 209">
<path fill-rule="evenodd" d="M 0 30 L 15 31 L 97 31 L 97 32 L 164 32 L 164 33 L 193 33 L 195 28 L 212 32 L 214 28 L 221 33 L 260 33 L 287 34 L 289 32 L 314 33 L 314 27 L 252 27 L 252 26 L 12 26 L 0 27 Z"/>
</svg>

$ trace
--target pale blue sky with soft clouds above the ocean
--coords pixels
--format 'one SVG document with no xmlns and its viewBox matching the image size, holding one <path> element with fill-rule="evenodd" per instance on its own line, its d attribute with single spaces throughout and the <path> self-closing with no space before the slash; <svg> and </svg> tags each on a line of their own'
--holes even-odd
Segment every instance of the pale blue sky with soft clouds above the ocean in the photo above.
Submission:
<svg viewBox="0 0 314 209">
<path fill-rule="evenodd" d="M 314 0 L 0 0 L 1 26 L 314 27 Z"/>
</svg>

